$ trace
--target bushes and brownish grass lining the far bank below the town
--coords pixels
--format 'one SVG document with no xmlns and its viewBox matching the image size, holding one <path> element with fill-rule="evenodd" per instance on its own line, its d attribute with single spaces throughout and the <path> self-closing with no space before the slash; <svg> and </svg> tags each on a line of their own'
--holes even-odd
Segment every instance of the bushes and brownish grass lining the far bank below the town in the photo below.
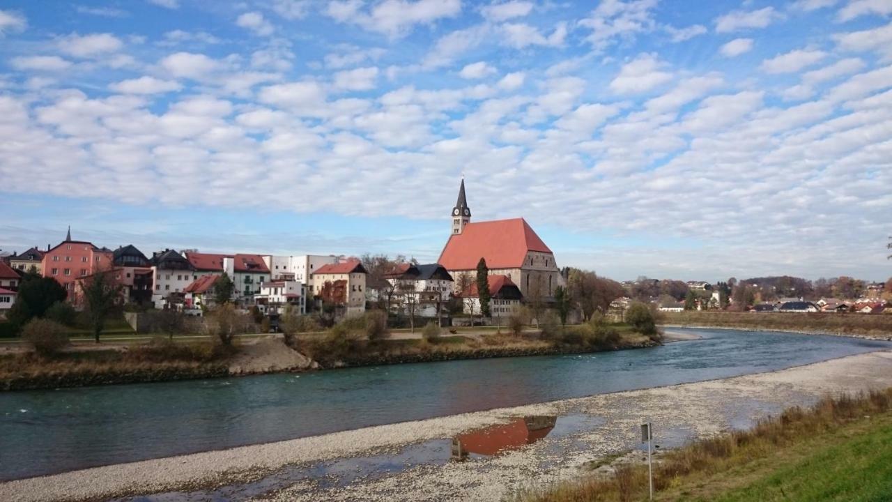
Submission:
<svg viewBox="0 0 892 502">
<path fill-rule="evenodd" d="M 634 316 L 632 316 L 634 317 Z M 239 353 L 239 335 L 257 332 L 251 314 L 222 305 L 209 314 L 200 330 L 202 341 L 184 342 L 171 330 L 197 330 L 183 320 L 159 323 L 158 337 L 125 347 L 78 350 L 69 347 L 67 329 L 47 319 L 32 319 L 23 328 L 31 351 L 0 356 L 0 389 L 47 389 L 104 383 L 169 381 L 232 374 L 229 364 Z M 453 335 L 428 323 L 420 339 L 388 339 L 381 311 L 349 317 L 322 330 L 310 315 L 285 313 L 280 321 L 281 350 L 309 356 L 321 368 L 368 364 L 417 363 L 452 359 L 542 356 L 657 345 L 661 335 L 644 307 L 631 323 L 609 323 L 594 315 L 590 322 L 563 326 L 545 316 L 538 330 L 529 319 L 515 316 L 501 329 L 478 329 Z M 193 331 L 194 332 L 194 331 Z M 165 336 L 161 336 L 165 335 Z"/>
</svg>

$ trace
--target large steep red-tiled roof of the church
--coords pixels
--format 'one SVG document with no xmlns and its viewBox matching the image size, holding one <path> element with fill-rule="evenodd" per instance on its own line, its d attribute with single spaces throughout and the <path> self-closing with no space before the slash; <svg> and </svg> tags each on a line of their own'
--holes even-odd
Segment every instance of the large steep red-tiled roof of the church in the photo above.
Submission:
<svg viewBox="0 0 892 502">
<path fill-rule="evenodd" d="M 530 251 L 551 253 L 523 218 L 476 222 L 450 236 L 437 262 L 446 270 L 474 270 L 485 258 L 491 269 L 520 268 Z"/>
</svg>

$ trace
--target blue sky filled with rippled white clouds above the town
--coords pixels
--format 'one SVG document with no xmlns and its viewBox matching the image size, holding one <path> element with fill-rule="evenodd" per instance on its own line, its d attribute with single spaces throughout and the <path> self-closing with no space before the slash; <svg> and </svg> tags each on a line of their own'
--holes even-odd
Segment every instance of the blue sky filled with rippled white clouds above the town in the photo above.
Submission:
<svg viewBox="0 0 892 502">
<path fill-rule="evenodd" d="M 892 0 L 0 3 L 0 250 L 885 280 Z"/>
</svg>

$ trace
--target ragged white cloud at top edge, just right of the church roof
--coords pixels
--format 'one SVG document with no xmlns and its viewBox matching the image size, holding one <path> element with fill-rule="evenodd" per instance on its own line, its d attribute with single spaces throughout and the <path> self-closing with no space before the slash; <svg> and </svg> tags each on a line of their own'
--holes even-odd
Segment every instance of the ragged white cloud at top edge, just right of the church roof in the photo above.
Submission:
<svg viewBox="0 0 892 502">
<path fill-rule="evenodd" d="M 586 38 L 595 49 L 603 50 L 619 39 L 630 39 L 656 28 L 653 9 L 657 0 L 604 0 L 579 26 L 591 29 Z"/>
</svg>

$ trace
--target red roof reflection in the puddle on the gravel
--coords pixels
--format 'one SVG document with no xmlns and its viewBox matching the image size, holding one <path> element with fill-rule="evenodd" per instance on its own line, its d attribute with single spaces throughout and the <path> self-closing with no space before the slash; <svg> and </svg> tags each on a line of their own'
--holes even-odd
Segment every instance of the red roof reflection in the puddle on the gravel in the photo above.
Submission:
<svg viewBox="0 0 892 502">
<path fill-rule="evenodd" d="M 459 434 L 452 439 L 452 460 L 465 460 L 469 454 L 496 455 L 501 451 L 531 445 L 549 435 L 558 417 L 522 416 L 502 425 Z"/>
</svg>

